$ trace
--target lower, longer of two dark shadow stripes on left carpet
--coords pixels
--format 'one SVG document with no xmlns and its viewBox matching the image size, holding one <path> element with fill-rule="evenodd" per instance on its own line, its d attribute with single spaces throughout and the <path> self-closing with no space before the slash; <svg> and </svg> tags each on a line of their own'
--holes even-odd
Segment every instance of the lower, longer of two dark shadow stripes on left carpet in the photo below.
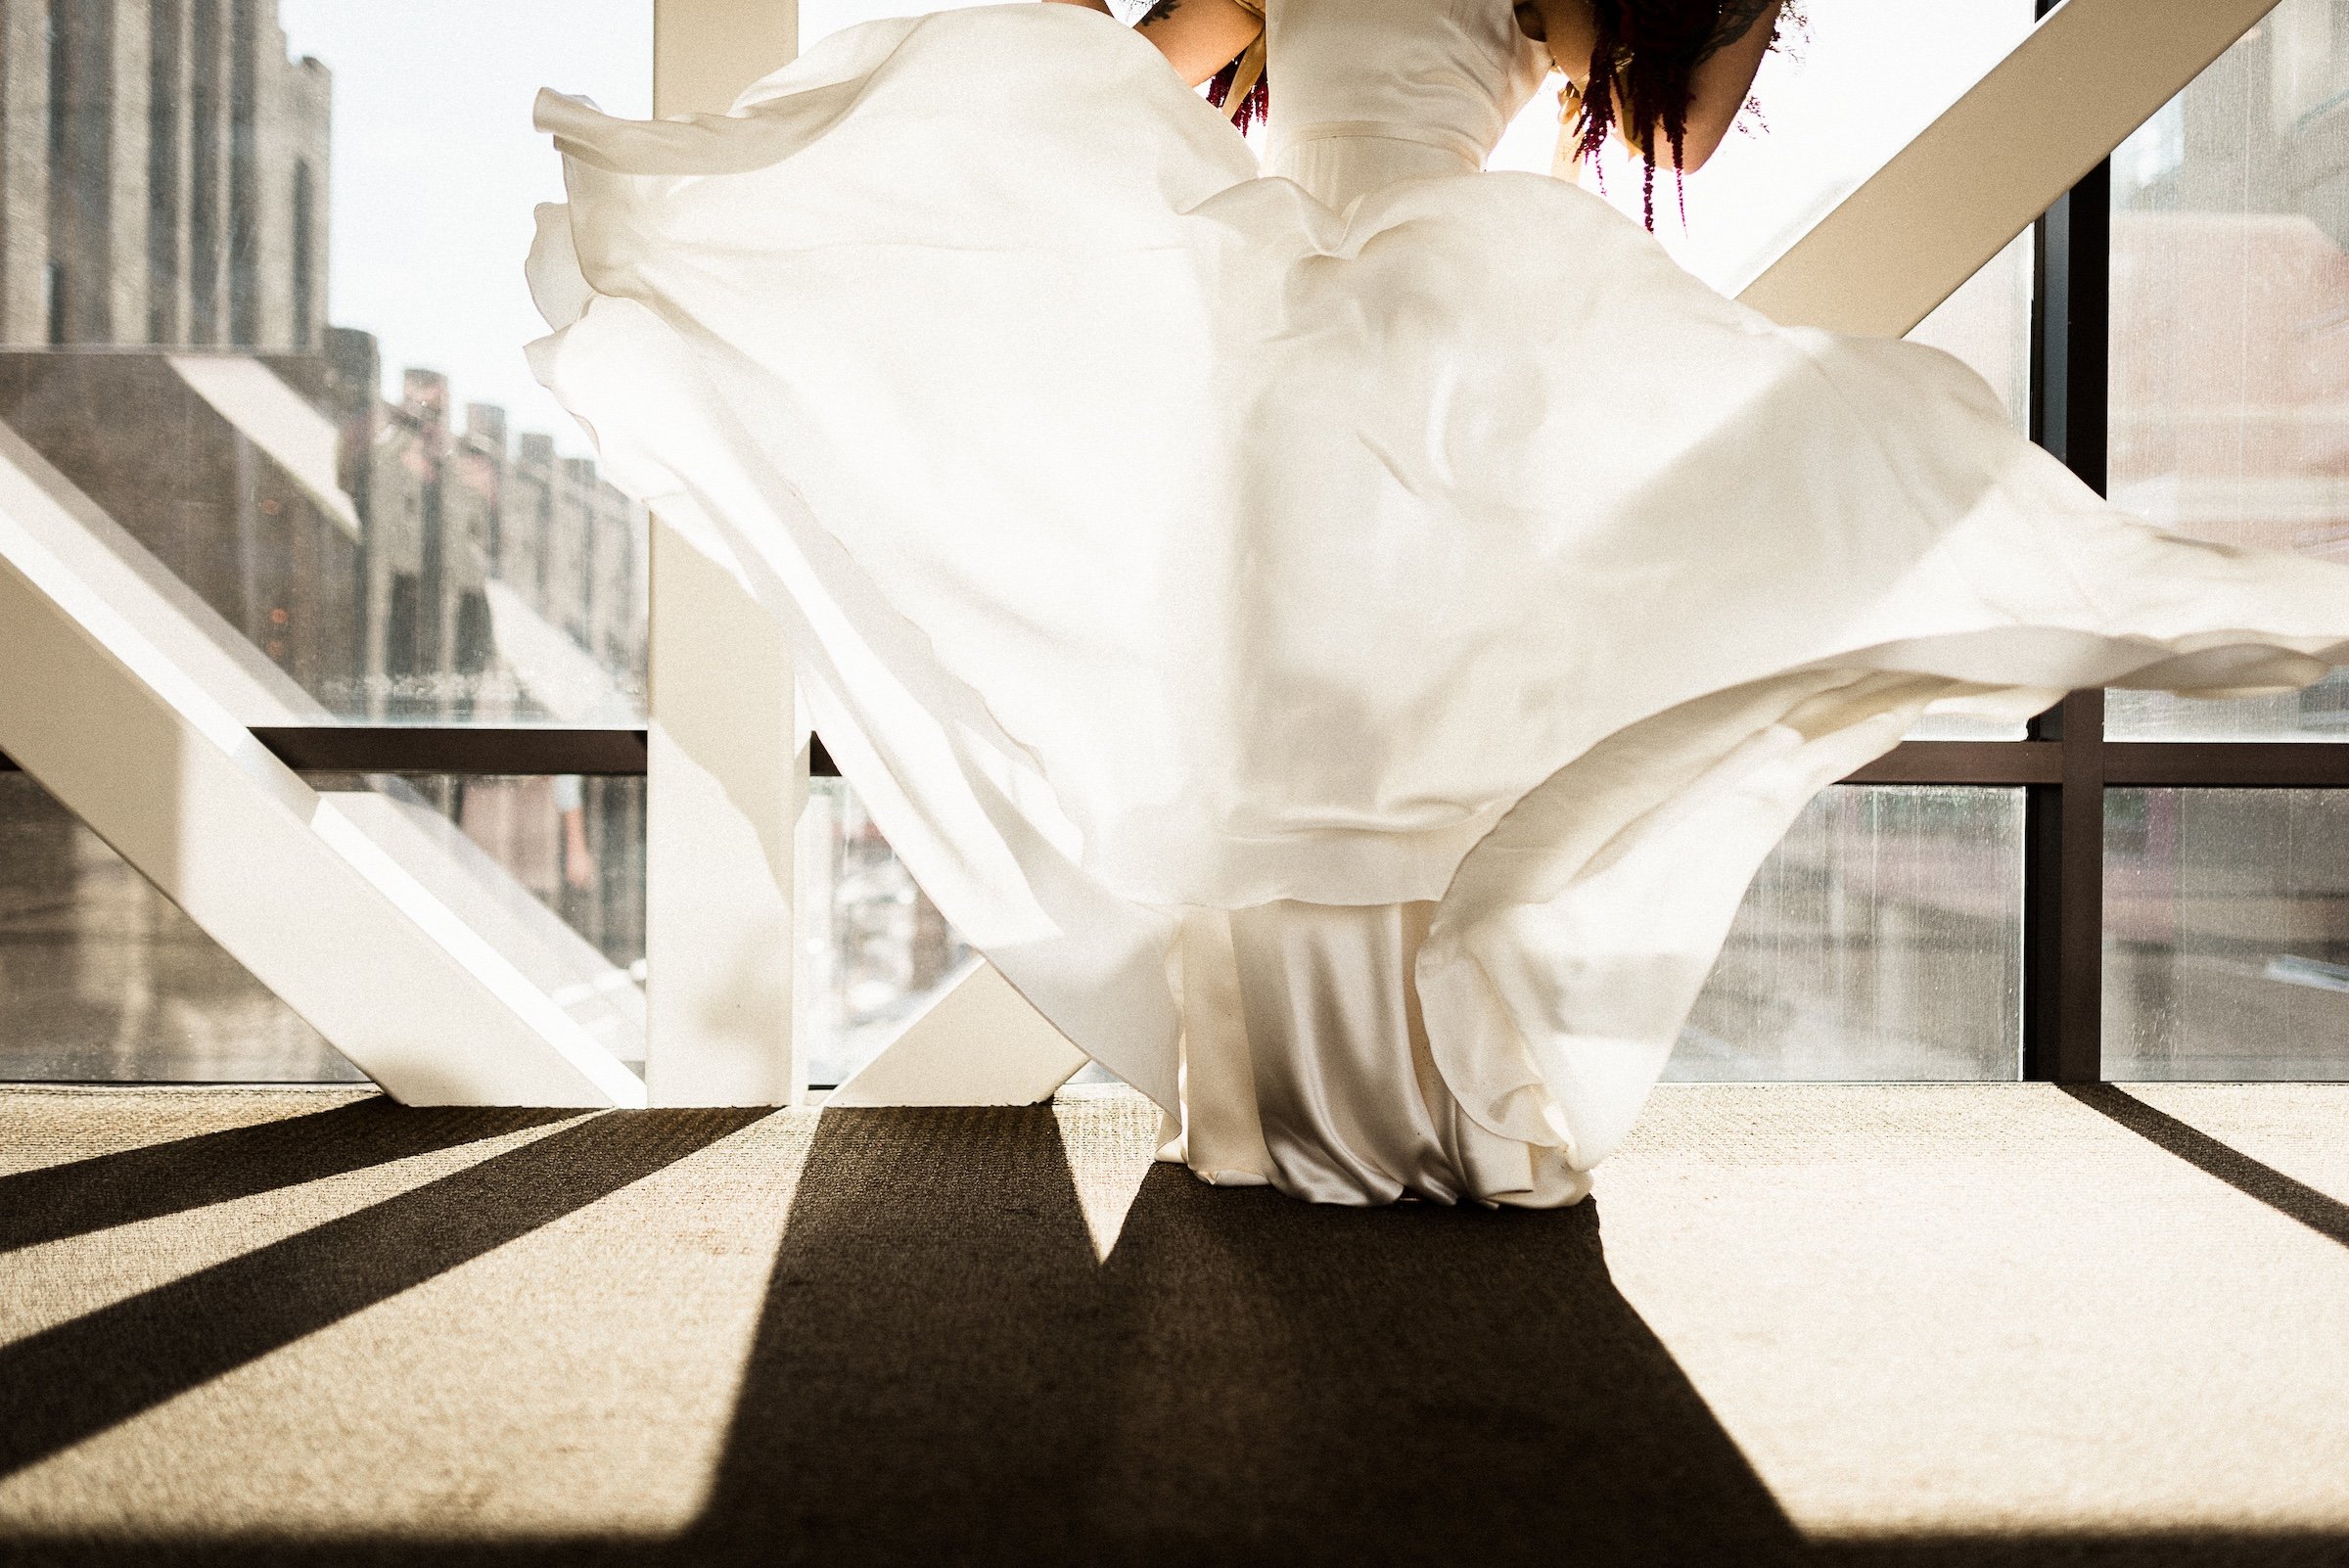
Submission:
<svg viewBox="0 0 2349 1568">
<path fill-rule="evenodd" d="M 0 1347 L 0 1476 L 444 1275 L 759 1120 L 608 1110 Z"/>
</svg>

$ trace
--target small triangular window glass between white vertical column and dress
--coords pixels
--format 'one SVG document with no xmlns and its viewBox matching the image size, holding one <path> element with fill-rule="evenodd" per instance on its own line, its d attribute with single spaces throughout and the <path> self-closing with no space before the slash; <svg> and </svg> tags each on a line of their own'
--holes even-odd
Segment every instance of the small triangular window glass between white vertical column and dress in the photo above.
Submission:
<svg viewBox="0 0 2349 1568">
<path fill-rule="evenodd" d="M 841 1084 L 975 962 L 843 779 L 799 822 L 799 1035 L 808 1082 Z"/>
</svg>

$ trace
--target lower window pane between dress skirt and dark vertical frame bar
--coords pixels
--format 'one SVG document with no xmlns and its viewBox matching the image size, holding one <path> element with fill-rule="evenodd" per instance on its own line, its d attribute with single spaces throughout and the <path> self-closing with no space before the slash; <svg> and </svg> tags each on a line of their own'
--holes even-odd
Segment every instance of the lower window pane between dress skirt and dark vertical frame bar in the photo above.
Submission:
<svg viewBox="0 0 2349 1568">
<path fill-rule="evenodd" d="M 1665 1077 L 2022 1070 L 2022 791 L 1837 786 L 1769 857 Z"/>
</svg>

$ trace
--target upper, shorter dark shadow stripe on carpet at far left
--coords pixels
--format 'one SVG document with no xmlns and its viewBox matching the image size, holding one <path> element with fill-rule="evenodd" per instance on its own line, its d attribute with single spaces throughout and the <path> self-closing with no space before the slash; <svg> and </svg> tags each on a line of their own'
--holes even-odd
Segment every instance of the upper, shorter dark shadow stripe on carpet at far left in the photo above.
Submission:
<svg viewBox="0 0 2349 1568">
<path fill-rule="evenodd" d="M 578 1110 L 409 1108 L 364 1099 L 0 1176 L 0 1251 L 61 1242 L 409 1155 L 545 1127 Z"/>
</svg>

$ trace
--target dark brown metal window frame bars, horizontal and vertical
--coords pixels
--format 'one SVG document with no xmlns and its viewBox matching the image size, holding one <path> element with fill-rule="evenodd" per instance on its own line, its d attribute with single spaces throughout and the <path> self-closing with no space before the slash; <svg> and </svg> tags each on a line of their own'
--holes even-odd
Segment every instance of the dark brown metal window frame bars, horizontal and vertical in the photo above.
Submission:
<svg viewBox="0 0 2349 1568">
<path fill-rule="evenodd" d="M 2112 167 L 2039 218 L 2032 439 L 2105 491 Z M 319 725 L 256 739 L 303 772 L 641 775 L 644 730 Z M 0 770 L 12 763 L 0 756 Z M 810 772 L 836 777 L 822 739 Z M 1846 784 L 2025 791 L 2022 1077 L 2102 1077 L 2105 791 L 2349 789 L 2349 744 L 2112 742 L 2105 692 L 2072 692 L 2008 742 L 1905 742 Z"/>
</svg>

